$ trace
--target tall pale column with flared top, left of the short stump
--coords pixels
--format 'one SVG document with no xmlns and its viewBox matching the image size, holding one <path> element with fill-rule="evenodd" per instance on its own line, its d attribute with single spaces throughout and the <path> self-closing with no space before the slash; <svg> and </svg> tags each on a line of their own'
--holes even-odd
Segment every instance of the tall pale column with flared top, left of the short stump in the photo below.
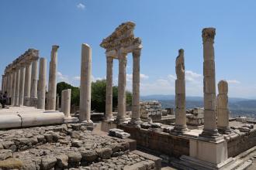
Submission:
<svg viewBox="0 0 256 170">
<path fill-rule="evenodd" d="M 52 46 L 50 53 L 50 70 L 49 70 L 49 83 L 47 103 L 49 110 L 55 110 L 56 108 L 56 93 L 57 93 L 57 49 L 59 46 Z"/>
</svg>

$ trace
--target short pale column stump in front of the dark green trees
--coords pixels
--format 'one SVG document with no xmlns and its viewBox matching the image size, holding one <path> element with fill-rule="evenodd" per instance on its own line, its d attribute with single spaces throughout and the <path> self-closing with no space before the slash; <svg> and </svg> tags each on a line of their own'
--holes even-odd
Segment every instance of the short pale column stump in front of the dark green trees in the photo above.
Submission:
<svg viewBox="0 0 256 170">
<path fill-rule="evenodd" d="M 61 111 L 65 117 L 71 117 L 71 89 L 61 91 Z"/>
</svg>

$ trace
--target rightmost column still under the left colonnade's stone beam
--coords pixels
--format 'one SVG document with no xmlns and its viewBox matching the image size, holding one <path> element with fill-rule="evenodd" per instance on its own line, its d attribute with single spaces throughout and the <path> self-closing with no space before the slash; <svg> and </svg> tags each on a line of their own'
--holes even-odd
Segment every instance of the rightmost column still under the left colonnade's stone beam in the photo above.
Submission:
<svg viewBox="0 0 256 170">
<path fill-rule="evenodd" d="M 35 107 L 36 106 L 36 101 L 37 101 L 37 61 L 33 60 L 32 62 L 32 69 L 31 69 L 31 89 L 30 89 L 30 106 Z"/>
</svg>

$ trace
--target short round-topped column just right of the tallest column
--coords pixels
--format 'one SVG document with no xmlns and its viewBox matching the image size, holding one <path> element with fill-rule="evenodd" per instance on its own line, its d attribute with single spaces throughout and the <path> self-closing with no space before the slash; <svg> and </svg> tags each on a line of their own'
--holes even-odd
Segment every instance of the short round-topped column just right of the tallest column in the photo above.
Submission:
<svg viewBox="0 0 256 170">
<path fill-rule="evenodd" d="M 217 128 L 221 134 L 230 134 L 229 115 L 228 109 L 228 83 L 225 80 L 221 80 L 218 83 L 219 94 L 217 96 Z"/>
</svg>

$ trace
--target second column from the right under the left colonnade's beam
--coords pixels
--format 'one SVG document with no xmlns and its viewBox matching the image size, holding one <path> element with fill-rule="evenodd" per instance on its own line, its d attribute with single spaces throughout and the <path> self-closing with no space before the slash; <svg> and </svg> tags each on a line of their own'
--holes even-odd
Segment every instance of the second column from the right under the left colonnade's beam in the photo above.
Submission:
<svg viewBox="0 0 256 170">
<path fill-rule="evenodd" d="M 25 74 L 25 90 L 24 90 L 24 105 L 29 106 L 30 103 L 30 87 L 31 87 L 31 63 L 26 64 Z"/>
</svg>

